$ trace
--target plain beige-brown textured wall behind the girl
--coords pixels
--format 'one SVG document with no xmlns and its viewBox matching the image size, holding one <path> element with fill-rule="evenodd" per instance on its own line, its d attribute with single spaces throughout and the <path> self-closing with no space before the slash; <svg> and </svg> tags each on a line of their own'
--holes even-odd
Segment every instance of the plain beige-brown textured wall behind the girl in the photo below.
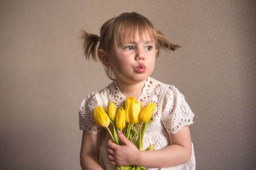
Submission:
<svg viewBox="0 0 256 170">
<path fill-rule="evenodd" d="M 122 12 L 148 17 L 176 52 L 152 77 L 186 96 L 197 170 L 256 167 L 255 0 L 0 0 L 0 169 L 78 170 L 78 108 L 110 83 L 80 30 Z"/>
</svg>

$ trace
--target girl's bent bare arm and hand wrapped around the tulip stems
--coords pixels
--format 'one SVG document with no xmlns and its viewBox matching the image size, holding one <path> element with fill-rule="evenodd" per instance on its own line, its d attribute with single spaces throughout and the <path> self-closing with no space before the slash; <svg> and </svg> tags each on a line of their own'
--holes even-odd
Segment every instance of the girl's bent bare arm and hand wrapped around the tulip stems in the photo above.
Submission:
<svg viewBox="0 0 256 170">
<path fill-rule="evenodd" d="M 184 164 L 191 157 L 189 126 L 184 126 L 176 134 L 169 134 L 170 145 L 160 150 L 139 151 L 123 134 L 119 138 L 123 146 L 108 143 L 108 157 L 114 165 L 166 168 Z"/>
</svg>

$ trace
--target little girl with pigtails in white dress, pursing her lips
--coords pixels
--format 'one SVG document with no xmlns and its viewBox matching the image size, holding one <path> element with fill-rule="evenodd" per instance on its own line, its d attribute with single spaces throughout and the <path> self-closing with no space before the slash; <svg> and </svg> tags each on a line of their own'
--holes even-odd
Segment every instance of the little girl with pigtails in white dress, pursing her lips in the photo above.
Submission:
<svg viewBox="0 0 256 170">
<path fill-rule="evenodd" d="M 79 128 L 83 130 L 80 164 L 83 170 L 115 170 L 115 166 L 137 165 L 146 170 L 195 170 L 195 154 L 189 131 L 194 114 L 174 85 L 150 77 L 159 50 L 173 50 L 163 34 L 138 13 L 123 13 L 106 21 L 100 36 L 84 32 L 86 58 L 104 65 L 113 82 L 90 93 L 79 108 Z M 99 44 L 99 45 L 98 45 Z M 155 103 L 153 121 L 147 126 L 143 146 L 155 144 L 154 151 L 140 151 L 119 131 L 123 145 L 116 145 L 93 118 L 93 109 L 108 101 L 117 109 L 127 97 L 135 97 L 144 107 Z M 145 150 L 145 148 L 143 148 Z"/>
</svg>

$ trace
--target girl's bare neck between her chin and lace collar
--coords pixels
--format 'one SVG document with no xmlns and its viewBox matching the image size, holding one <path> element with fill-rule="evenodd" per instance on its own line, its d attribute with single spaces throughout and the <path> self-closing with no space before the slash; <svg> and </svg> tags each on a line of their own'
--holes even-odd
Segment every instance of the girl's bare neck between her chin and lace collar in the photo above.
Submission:
<svg viewBox="0 0 256 170">
<path fill-rule="evenodd" d="M 146 81 L 147 79 L 136 84 L 127 84 L 126 82 L 117 80 L 117 84 L 120 93 L 126 98 L 133 96 L 135 99 L 138 99 L 138 97 L 141 95 L 142 89 Z"/>
</svg>

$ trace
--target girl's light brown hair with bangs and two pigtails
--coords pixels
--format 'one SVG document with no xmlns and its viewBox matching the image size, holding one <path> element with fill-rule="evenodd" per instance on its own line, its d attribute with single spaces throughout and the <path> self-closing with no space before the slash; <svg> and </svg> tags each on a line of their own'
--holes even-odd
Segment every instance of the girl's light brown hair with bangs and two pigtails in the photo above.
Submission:
<svg viewBox="0 0 256 170">
<path fill-rule="evenodd" d="M 82 39 L 84 40 L 84 54 L 86 59 L 90 56 L 93 60 L 97 61 L 96 53 L 98 49 L 106 51 L 110 54 L 121 43 L 122 39 L 135 38 L 138 33 L 139 38 L 142 38 L 144 34 L 148 34 L 149 37 L 156 43 L 156 50 L 159 54 L 160 49 L 175 51 L 179 45 L 174 45 L 168 41 L 167 38 L 160 32 L 156 31 L 153 24 L 144 16 L 132 12 L 122 13 L 118 17 L 113 17 L 107 20 L 100 28 L 100 36 L 96 34 L 88 34 L 83 31 Z M 99 43 L 99 45 L 98 45 Z M 107 76 L 111 80 L 115 80 L 114 73 L 111 68 L 104 67 Z"/>
</svg>

